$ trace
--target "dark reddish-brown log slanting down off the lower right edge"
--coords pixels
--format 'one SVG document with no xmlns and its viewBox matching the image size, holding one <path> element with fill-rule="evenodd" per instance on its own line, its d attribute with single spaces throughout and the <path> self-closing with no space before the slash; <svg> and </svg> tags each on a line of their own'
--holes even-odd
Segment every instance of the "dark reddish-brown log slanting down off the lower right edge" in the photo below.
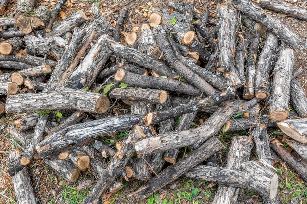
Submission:
<svg viewBox="0 0 307 204">
<path fill-rule="evenodd" d="M 278 140 L 271 142 L 271 148 L 281 157 L 289 166 L 291 166 L 302 179 L 307 181 L 307 161 L 302 159 L 299 155 L 295 156 L 291 154 L 287 149 L 282 146 L 282 143 Z"/>
</svg>

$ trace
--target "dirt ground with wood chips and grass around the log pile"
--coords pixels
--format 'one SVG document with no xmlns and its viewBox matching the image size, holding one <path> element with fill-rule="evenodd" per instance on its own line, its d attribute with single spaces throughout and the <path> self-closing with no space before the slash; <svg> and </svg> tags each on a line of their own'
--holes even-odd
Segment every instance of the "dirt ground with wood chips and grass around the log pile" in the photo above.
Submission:
<svg viewBox="0 0 307 204">
<path fill-rule="evenodd" d="M 94 3 L 99 6 L 102 14 L 108 14 L 118 6 L 125 5 L 129 0 L 68 0 L 64 5 L 57 21 L 64 19 L 70 12 L 74 10 L 83 10 L 88 15 L 90 6 Z M 165 8 L 169 0 L 134 0 L 130 2 L 128 7 L 128 17 L 123 25 L 123 31 L 131 32 L 134 27 L 140 26 L 142 23 L 148 21 L 148 10 L 154 8 Z M 301 5 L 301 0 L 283 0 L 287 3 Z M 45 5 L 48 8 L 56 3 L 56 0 L 37 0 L 37 5 Z M 197 9 L 202 10 L 209 7 L 211 17 L 215 15 L 216 5 L 221 1 L 216 0 L 198 0 L 201 5 Z M 7 8 L 7 15 L 11 15 L 16 7 L 14 0 L 10 1 Z M 307 8 L 307 7 L 306 7 Z M 272 13 L 281 19 L 290 29 L 299 34 L 302 39 L 307 42 L 307 22 L 297 20 L 291 17 L 283 16 L 281 14 Z M 118 12 L 114 12 L 108 17 L 110 23 L 114 24 L 117 19 Z M 123 40 L 123 36 L 120 36 Z M 299 76 L 304 88 L 307 88 L 307 50 L 297 53 L 294 64 L 294 69 L 302 68 L 303 74 Z M 68 113 L 67 113 L 68 115 Z M 14 204 L 16 203 L 15 193 L 11 177 L 6 172 L 8 164 L 8 154 L 10 151 L 18 149 L 19 144 L 14 142 L 14 139 L 8 134 L 7 129 L 14 120 L 22 115 L 4 115 L 0 117 L 0 204 Z M 55 115 L 51 117 L 56 119 Z M 65 117 L 65 113 L 63 113 Z M 194 121 L 197 126 L 201 123 L 199 115 Z M 283 138 L 280 131 L 270 130 L 270 137 Z M 220 139 L 225 146 L 229 146 L 231 136 L 235 134 L 246 135 L 246 132 L 234 133 L 230 135 L 220 134 Z M 223 150 L 220 155 L 220 163 L 223 165 L 225 156 L 227 155 L 227 148 Z M 255 148 L 252 151 L 251 159 L 256 160 Z M 306 204 L 307 203 L 307 183 L 304 182 L 295 171 L 285 164 L 282 160 L 275 164 L 279 172 L 279 186 L 278 194 L 283 204 Z M 89 172 L 83 172 L 74 183 L 67 183 L 59 177 L 48 166 L 45 166 L 41 161 L 31 163 L 29 165 L 29 172 L 34 186 L 38 203 L 42 204 L 80 204 L 82 199 L 92 189 L 95 180 Z M 140 181 L 123 181 L 125 187 L 114 194 L 104 194 L 102 197 L 103 204 L 138 204 L 138 202 L 130 199 L 128 195 L 137 189 L 142 182 Z M 210 204 L 214 198 L 216 185 L 207 183 L 205 181 L 192 181 L 183 178 L 173 182 L 155 195 L 148 198 L 148 200 L 141 202 L 142 204 Z M 239 203 L 240 204 L 260 204 L 262 202 L 261 196 L 254 191 L 241 190 Z"/>
</svg>

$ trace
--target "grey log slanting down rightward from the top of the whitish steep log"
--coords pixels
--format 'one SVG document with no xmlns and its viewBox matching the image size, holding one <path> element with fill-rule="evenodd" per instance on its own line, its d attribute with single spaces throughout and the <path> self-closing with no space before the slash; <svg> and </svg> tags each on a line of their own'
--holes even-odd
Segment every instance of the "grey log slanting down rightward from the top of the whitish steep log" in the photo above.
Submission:
<svg viewBox="0 0 307 204">
<path fill-rule="evenodd" d="M 136 49 L 129 48 L 120 43 L 117 43 L 111 40 L 107 35 L 104 35 L 102 39 L 102 45 L 107 46 L 114 54 L 119 55 L 131 62 L 135 62 L 145 68 L 149 68 L 161 74 L 162 76 L 175 77 L 176 74 L 174 71 L 169 69 L 165 64 L 161 63 L 158 60 L 154 60 L 146 54 L 142 54 Z"/>
</svg>

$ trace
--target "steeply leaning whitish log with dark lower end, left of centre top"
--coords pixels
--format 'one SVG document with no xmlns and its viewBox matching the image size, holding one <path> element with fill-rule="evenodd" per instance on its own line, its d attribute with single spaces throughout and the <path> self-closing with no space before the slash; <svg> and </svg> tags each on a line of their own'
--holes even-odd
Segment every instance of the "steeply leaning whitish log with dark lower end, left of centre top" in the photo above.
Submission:
<svg viewBox="0 0 307 204">
<path fill-rule="evenodd" d="M 111 51 L 101 45 L 101 36 L 95 45 L 92 46 L 83 61 L 70 75 L 68 87 L 81 89 L 90 87 L 96 76 L 99 74 L 106 61 L 111 56 Z"/>
</svg>

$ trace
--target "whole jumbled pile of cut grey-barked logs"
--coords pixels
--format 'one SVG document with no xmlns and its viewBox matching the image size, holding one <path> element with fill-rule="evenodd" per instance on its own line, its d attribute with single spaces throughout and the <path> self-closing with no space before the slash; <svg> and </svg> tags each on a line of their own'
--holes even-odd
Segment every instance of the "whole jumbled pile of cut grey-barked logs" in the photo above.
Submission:
<svg viewBox="0 0 307 204">
<path fill-rule="evenodd" d="M 95 5 L 92 19 L 75 11 L 52 25 L 65 2 L 50 13 L 18 0 L 15 15 L 0 19 L 0 114 L 20 117 L 9 132 L 21 151 L 7 167 L 18 203 L 38 203 L 27 170 L 37 159 L 69 182 L 82 171 L 96 177 L 84 204 L 134 179 L 147 182 L 130 196 L 144 200 L 179 177 L 218 183 L 214 204 L 236 203 L 240 188 L 279 204 L 277 156 L 307 181 L 307 98 L 302 70 L 293 71 L 307 44 L 264 10 L 307 20 L 305 8 L 233 0 L 212 19 L 193 0 L 170 2 L 127 33 L 125 7 L 115 27 Z M 69 116 L 57 123 L 54 113 Z M 283 141 L 269 138 L 277 126 Z M 242 130 L 248 136 L 234 134 L 221 165 L 218 136 Z"/>
</svg>

